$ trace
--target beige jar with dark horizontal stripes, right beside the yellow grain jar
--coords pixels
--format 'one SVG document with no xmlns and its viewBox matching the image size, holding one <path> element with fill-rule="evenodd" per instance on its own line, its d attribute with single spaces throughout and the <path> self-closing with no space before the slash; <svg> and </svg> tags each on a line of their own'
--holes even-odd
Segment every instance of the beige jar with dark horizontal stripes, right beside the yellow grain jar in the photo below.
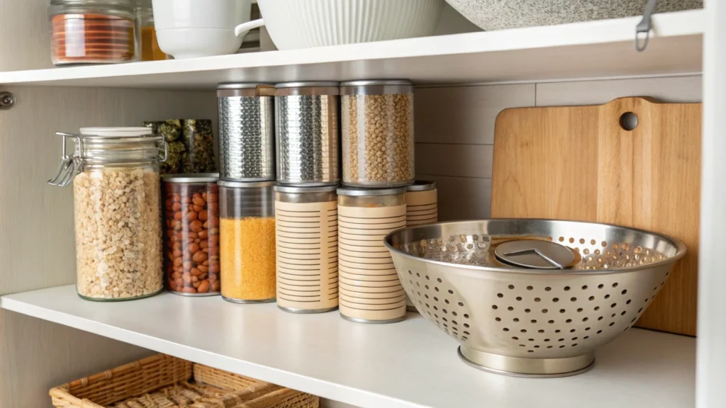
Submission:
<svg viewBox="0 0 726 408">
<path fill-rule="evenodd" d="M 274 187 L 277 307 L 282 310 L 338 308 L 336 188 Z"/>
</svg>

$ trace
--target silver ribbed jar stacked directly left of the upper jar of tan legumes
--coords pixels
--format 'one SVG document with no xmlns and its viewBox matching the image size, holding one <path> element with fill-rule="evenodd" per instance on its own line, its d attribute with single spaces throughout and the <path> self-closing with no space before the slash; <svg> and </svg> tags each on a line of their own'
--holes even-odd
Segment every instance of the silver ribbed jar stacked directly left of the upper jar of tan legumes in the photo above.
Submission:
<svg viewBox="0 0 726 408">
<path fill-rule="evenodd" d="M 275 85 L 277 181 L 338 185 L 338 82 Z"/>
</svg>

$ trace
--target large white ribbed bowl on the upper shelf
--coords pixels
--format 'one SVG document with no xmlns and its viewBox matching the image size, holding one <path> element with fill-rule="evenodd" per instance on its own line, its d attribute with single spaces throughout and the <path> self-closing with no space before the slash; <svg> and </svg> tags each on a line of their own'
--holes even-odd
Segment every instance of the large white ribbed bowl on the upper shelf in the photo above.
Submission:
<svg viewBox="0 0 726 408">
<path fill-rule="evenodd" d="M 258 0 L 258 6 L 275 46 L 300 49 L 431 36 L 444 0 Z"/>
</svg>

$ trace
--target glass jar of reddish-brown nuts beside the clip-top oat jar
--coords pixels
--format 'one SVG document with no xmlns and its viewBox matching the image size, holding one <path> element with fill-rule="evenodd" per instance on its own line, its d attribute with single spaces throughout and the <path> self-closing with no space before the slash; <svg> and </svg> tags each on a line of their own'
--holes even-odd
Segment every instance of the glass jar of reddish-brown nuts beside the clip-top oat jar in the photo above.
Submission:
<svg viewBox="0 0 726 408">
<path fill-rule="evenodd" d="M 218 174 L 162 177 L 166 288 L 179 295 L 219 295 Z"/>
</svg>

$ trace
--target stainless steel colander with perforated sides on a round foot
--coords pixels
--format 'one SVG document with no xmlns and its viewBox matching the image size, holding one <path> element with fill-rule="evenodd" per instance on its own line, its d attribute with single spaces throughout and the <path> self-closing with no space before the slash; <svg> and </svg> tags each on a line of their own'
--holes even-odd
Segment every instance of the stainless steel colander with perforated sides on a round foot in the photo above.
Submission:
<svg viewBox="0 0 726 408">
<path fill-rule="evenodd" d="M 581 259 L 568 269 L 499 262 L 494 249 L 548 240 Z M 595 349 L 635 324 L 685 245 L 639 229 L 578 221 L 491 219 L 388 234 L 406 293 L 460 343 L 462 359 L 509 375 L 558 377 L 592 367 Z"/>
</svg>

